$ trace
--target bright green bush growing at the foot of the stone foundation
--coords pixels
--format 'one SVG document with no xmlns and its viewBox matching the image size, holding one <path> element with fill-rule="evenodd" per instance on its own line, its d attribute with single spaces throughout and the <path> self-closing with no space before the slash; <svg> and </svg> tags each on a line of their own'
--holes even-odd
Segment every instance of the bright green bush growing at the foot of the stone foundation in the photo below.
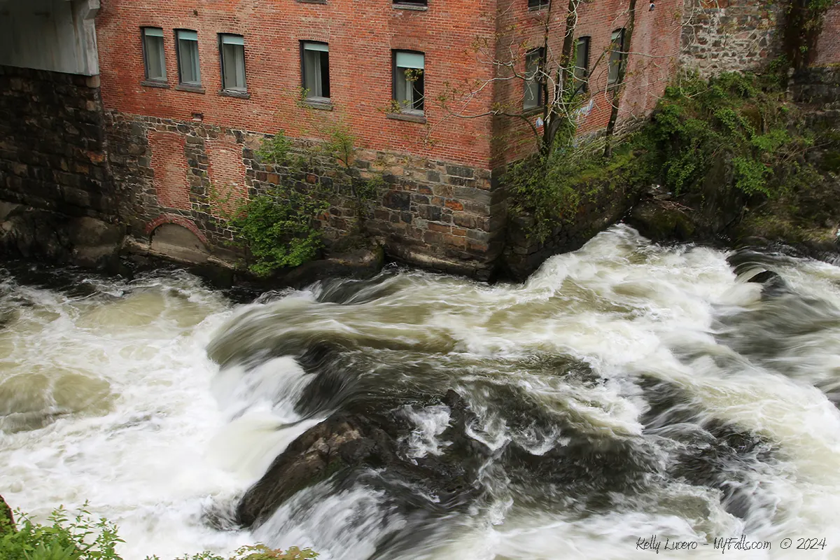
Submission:
<svg viewBox="0 0 840 560">
<path fill-rule="evenodd" d="M 266 276 L 318 256 L 323 241 L 313 223 L 328 207 L 329 201 L 317 189 L 303 192 L 277 186 L 244 204 L 228 225 L 255 258 L 249 270 Z"/>
</svg>

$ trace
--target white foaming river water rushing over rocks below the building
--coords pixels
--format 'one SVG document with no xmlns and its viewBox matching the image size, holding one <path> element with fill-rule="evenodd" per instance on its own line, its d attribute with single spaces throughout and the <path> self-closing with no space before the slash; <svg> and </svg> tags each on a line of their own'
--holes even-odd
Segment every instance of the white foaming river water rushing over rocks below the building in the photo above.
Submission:
<svg viewBox="0 0 840 560">
<path fill-rule="evenodd" d="M 831 264 L 619 226 L 522 285 L 386 270 L 236 304 L 184 272 L 3 276 L 0 494 L 36 518 L 88 500 L 126 560 L 256 541 L 322 560 L 635 558 L 651 536 L 697 543 L 665 557 L 840 558 Z M 343 373 L 302 407 L 321 381 L 291 356 L 324 342 Z M 480 500 L 418 517 L 328 479 L 237 530 L 244 491 L 346 395 L 402 395 L 418 458 L 449 445 L 450 411 L 412 395 L 448 389 L 491 451 Z M 770 549 L 715 547 L 742 535 Z"/>
</svg>

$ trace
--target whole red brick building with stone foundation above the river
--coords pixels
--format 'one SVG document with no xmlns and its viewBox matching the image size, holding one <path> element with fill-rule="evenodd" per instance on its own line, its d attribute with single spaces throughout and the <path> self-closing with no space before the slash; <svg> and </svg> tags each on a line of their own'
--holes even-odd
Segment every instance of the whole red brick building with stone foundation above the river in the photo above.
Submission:
<svg viewBox="0 0 840 560">
<path fill-rule="evenodd" d="M 675 7 L 664 0 L 655 11 L 648 4 L 637 10 L 633 44 L 641 50 L 628 62 L 622 119 L 653 107 L 675 67 Z M 607 63 L 627 16 L 626 0 L 580 8 L 575 35 L 587 47 L 581 66 L 591 66 L 582 131 L 606 126 Z M 210 243 L 223 240 L 229 232 L 213 219 L 218 212 L 202 202 L 208 182 L 233 185 L 237 196 L 259 192 L 277 179 L 253 157 L 261 133 L 317 138 L 323 123 L 340 119 L 358 138 L 360 165 L 386 172 L 393 192 L 370 226 L 391 252 L 480 270 L 501 250 L 504 200 L 494 171 L 535 145 L 521 118 L 480 117 L 500 104 L 522 111 L 526 103 L 525 81 L 494 81 L 492 54 L 525 72 L 526 53 L 543 44 L 545 29 L 549 50 L 559 52 L 565 19 L 564 5 L 534 0 L 103 2 L 102 103 L 114 123 L 112 144 L 137 152 L 115 162 L 134 181 L 126 193 L 134 230 L 172 215 L 195 222 Z M 404 67 L 421 77 L 400 91 Z M 412 93 L 423 101 L 395 110 L 396 97 L 405 105 L 406 88 L 418 86 Z M 462 102 L 456 90 L 474 95 Z M 459 116 L 436 102 L 443 95 Z M 536 122 L 540 113 L 526 114 Z M 138 188 L 138 176 L 151 178 L 147 188 Z M 350 218 L 335 209 L 328 237 L 344 233 Z"/>
</svg>

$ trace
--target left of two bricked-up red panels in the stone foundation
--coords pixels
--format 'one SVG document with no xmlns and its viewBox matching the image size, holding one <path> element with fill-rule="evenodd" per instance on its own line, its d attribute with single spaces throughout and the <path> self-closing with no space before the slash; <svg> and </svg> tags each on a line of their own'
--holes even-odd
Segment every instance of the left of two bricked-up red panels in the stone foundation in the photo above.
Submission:
<svg viewBox="0 0 840 560">
<path fill-rule="evenodd" d="M 190 191 L 186 186 L 184 139 L 171 132 L 149 134 L 151 170 L 155 176 L 155 194 L 162 208 L 190 209 Z"/>
</svg>

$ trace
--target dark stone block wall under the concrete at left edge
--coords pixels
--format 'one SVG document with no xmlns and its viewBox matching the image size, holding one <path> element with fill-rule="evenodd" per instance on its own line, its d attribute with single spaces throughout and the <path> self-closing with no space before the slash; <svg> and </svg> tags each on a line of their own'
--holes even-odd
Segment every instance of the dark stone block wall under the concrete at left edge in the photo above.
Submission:
<svg viewBox="0 0 840 560">
<path fill-rule="evenodd" d="M 0 66 L 0 199 L 113 220 L 97 78 Z"/>
</svg>

